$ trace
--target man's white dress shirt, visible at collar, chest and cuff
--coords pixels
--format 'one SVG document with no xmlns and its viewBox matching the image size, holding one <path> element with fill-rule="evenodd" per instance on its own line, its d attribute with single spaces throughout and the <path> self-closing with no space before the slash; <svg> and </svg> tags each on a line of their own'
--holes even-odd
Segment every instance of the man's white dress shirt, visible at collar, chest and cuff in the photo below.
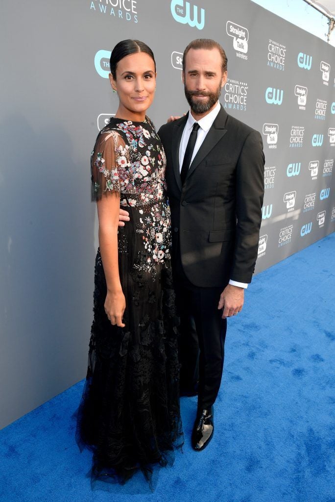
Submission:
<svg viewBox="0 0 335 502">
<path fill-rule="evenodd" d="M 203 141 L 206 138 L 208 131 L 211 129 L 213 122 L 216 119 L 216 117 L 220 111 L 220 108 L 221 108 L 221 105 L 220 105 L 220 102 L 218 101 L 215 108 L 213 108 L 213 110 L 210 113 L 208 113 L 203 118 L 198 120 L 198 124 L 200 126 L 200 129 L 198 131 L 197 142 L 196 142 L 196 145 L 193 150 L 191 163 L 192 163 L 193 159 L 195 158 L 195 156 L 197 155 L 198 150 L 200 149 L 201 145 L 203 144 Z M 180 171 L 182 170 L 185 151 L 186 151 L 186 147 L 189 142 L 189 139 L 190 139 L 193 124 L 196 121 L 197 120 L 194 118 L 194 116 L 192 115 L 191 110 L 190 110 L 189 116 L 188 116 L 188 119 L 186 122 L 186 126 L 183 131 L 180 148 L 179 148 L 179 169 L 180 169 Z M 229 284 L 231 284 L 232 286 L 238 286 L 238 287 L 244 288 L 244 289 L 246 289 L 248 287 L 247 283 L 240 283 L 237 281 L 232 281 L 231 279 L 229 281 Z"/>
</svg>

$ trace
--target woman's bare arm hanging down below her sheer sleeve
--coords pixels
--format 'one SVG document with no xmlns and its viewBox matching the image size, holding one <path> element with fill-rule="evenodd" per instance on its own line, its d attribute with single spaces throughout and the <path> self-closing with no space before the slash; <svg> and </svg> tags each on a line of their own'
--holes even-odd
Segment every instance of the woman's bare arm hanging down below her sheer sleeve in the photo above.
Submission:
<svg viewBox="0 0 335 502">
<path fill-rule="evenodd" d="M 120 283 L 117 252 L 119 193 L 112 192 L 102 197 L 97 201 L 97 208 L 100 254 L 107 283 L 105 312 L 111 324 L 124 327 L 122 316 L 125 310 L 125 297 Z"/>
</svg>

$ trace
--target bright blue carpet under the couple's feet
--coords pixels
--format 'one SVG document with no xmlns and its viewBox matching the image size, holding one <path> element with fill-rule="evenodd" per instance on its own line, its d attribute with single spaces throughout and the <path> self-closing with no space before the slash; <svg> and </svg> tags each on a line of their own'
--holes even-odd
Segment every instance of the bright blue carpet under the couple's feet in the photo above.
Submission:
<svg viewBox="0 0 335 502">
<path fill-rule="evenodd" d="M 229 320 L 215 436 L 190 446 L 196 398 L 182 398 L 184 454 L 111 492 L 91 490 L 74 440 L 83 382 L 0 432 L 6 502 L 335 502 L 335 234 L 256 276 Z"/>
</svg>

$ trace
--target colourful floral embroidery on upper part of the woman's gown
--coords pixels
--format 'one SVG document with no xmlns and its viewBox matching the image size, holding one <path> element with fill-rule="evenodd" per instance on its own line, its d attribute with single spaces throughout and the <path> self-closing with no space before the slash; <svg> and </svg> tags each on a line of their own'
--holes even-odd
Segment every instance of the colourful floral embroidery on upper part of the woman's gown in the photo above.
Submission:
<svg viewBox="0 0 335 502">
<path fill-rule="evenodd" d="M 105 150 L 111 137 L 113 165 L 107 166 Z M 111 119 L 100 132 L 97 146 L 100 150 L 92 152 L 91 161 L 93 199 L 98 200 L 103 194 L 114 190 L 120 193 L 121 207 L 137 208 L 132 219 L 136 234 L 142 240 L 145 256 L 137 260 L 134 268 L 153 272 L 155 263 L 164 264 L 165 259 L 171 258 L 166 159 L 159 138 L 149 119 L 135 123 Z M 119 253 L 126 252 L 122 238 L 119 232 Z"/>
</svg>

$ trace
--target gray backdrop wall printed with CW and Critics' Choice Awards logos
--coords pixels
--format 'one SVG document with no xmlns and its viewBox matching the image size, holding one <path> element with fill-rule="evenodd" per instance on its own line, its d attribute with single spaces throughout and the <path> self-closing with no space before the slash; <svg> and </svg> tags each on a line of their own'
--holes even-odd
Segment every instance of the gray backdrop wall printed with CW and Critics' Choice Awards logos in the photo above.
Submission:
<svg viewBox="0 0 335 502">
<path fill-rule="evenodd" d="M 214 38 L 221 102 L 262 134 L 256 272 L 335 224 L 334 49 L 249 0 L 44 0 L 1 6 L 0 427 L 82 379 L 97 218 L 89 156 L 117 106 L 108 58 L 125 38 L 157 62 L 156 127 L 187 110 L 182 53 Z"/>
</svg>

